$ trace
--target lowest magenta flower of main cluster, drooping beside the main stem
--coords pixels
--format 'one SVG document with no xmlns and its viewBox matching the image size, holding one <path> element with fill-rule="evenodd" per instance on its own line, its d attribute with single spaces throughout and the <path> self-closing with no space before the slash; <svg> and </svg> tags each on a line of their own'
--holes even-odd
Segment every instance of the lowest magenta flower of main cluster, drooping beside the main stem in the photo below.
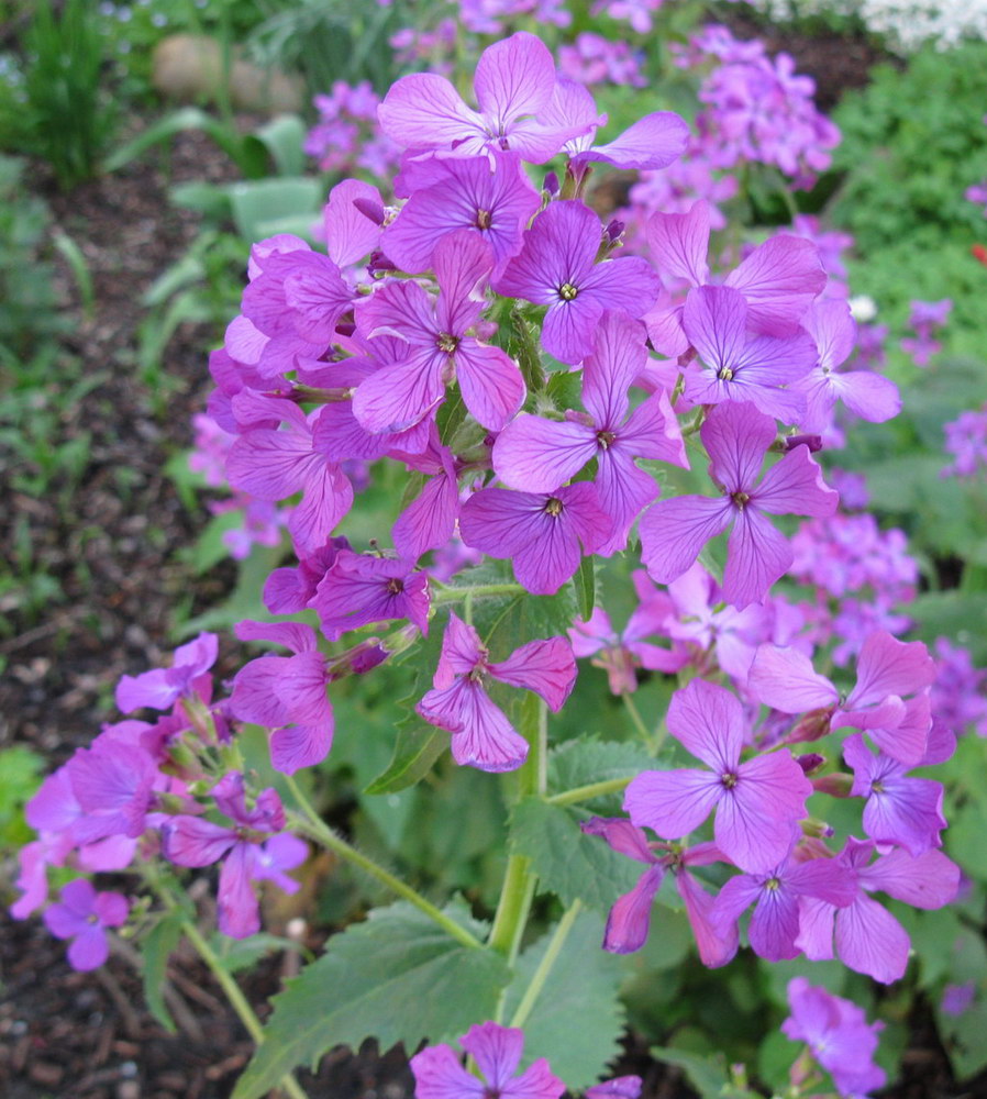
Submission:
<svg viewBox="0 0 987 1099">
<path fill-rule="evenodd" d="M 576 662 L 562 637 L 531 641 L 499 664 L 488 657 L 476 630 L 450 613 L 433 689 L 415 709 L 453 734 L 453 758 L 459 766 L 514 770 L 528 758 L 528 742 L 490 701 L 485 682 L 497 679 L 533 690 L 557 712 L 576 681 Z"/>
</svg>

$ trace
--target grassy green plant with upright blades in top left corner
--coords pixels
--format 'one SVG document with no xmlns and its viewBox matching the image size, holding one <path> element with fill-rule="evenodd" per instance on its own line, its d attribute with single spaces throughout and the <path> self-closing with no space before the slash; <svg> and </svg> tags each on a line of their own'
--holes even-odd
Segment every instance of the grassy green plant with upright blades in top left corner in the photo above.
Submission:
<svg viewBox="0 0 987 1099">
<path fill-rule="evenodd" d="M 66 0 L 56 15 L 52 0 L 40 0 L 24 36 L 23 84 L 0 82 L 0 146 L 46 160 L 64 190 L 96 176 L 117 120 L 101 87 L 95 9 Z"/>
</svg>

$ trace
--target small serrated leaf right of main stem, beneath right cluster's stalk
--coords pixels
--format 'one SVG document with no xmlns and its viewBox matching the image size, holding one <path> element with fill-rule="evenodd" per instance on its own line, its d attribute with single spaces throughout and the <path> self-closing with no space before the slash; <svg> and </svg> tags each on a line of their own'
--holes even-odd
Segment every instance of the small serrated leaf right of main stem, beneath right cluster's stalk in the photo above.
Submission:
<svg viewBox="0 0 987 1099">
<path fill-rule="evenodd" d="M 510 845 L 531 859 L 541 887 L 565 904 L 578 897 L 588 908 L 606 912 L 634 887 L 642 866 L 619 855 L 599 836 L 584 835 L 579 821 L 589 815 L 528 798 L 511 813 Z"/>
</svg>

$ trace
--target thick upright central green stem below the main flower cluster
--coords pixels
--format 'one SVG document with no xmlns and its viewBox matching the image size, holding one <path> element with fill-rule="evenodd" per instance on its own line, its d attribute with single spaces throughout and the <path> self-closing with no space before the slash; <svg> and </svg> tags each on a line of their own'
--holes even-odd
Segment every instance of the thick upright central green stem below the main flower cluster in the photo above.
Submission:
<svg viewBox="0 0 987 1099">
<path fill-rule="evenodd" d="M 530 745 L 528 758 L 517 773 L 520 801 L 533 795 L 544 796 L 548 785 L 548 711 L 537 695 L 526 695 L 523 699 L 519 725 Z M 517 958 L 521 946 L 521 936 L 534 899 L 535 880 L 530 858 L 525 855 L 511 855 L 508 858 L 488 945 L 511 963 Z"/>
</svg>

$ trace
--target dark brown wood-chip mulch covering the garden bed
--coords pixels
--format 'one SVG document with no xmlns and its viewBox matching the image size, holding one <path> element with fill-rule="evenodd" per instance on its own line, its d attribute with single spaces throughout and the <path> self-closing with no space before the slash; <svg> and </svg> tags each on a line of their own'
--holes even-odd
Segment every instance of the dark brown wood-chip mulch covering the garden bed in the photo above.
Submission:
<svg viewBox="0 0 987 1099">
<path fill-rule="evenodd" d="M 732 16 L 744 33 L 743 16 Z M 764 36 L 762 27 L 748 27 Z M 876 59 L 867 43 L 843 40 L 772 41 L 796 54 L 801 71 L 817 77 L 829 107 L 845 87 L 866 80 Z M 70 508 L 57 500 L 14 493 L 0 477 L 3 513 L 24 517 L 37 562 L 65 598 L 40 619 L 8 614 L 0 655 L 0 747 L 22 743 L 51 764 L 87 744 L 111 720 L 112 687 L 124 673 L 154 666 L 175 644 L 174 608 L 191 597 L 190 611 L 215 604 L 230 589 L 232 565 L 196 577 L 177 551 L 191 544 L 204 511 L 190 513 L 169 477 L 167 460 L 191 441 L 190 417 L 210 388 L 207 351 L 217 333 L 186 325 L 171 341 L 167 412 L 155 409 L 133 367 L 142 293 L 193 240 L 199 222 L 169 206 L 173 184 L 236 178 L 234 166 L 201 135 L 180 135 L 168 164 L 153 156 L 111 177 L 46 198 L 55 224 L 81 247 L 96 286 L 97 315 L 86 320 L 69 273 L 59 287 L 73 317 L 67 351 L 86 370 L 107 371 L 64 419 L 62 430 L 88 431 L 91 457 Z M 35 182 L 45 190 L 45 180 Z M 126 470 L 121 476 L 120 470 Z M 2 473 L 2 455 L 0 455 Z M 81 534 L 80 532 L 85 532 Z M 12 554 L 10 524 L 0 525 L 0 554 Z M 223 668 L 221 667 L 221 674 Z M 0 866 L 0 877 L 12 867 Z M 315 944 L 310 944 L 315 945 Z M 281 985 L 281 956 L 263 961 L 243 978 L 258 1010 Z M 180 1015 L 169 1034 L 148 1013 L 133 964 L 114 955 L 96 974 L 77 974 L 37 919 L 0 914 L 0 1095 L 4 1099 L 225 1099 L 249 1058 L 252 1043 L 211 976 L 193 955 L 169 967 Z M 629 1037 L 617 1073 L 640 1073 L 645 1099 L 691 1095 L 677 1072 L 657 1065 Z M 318 1077 L 300 1079 L 312 1099 L 408 1099 L 412 1079 L 400 1048 L 380 1055 L 373 1043 L 356 1053 L 339 1048 Z M 957 1088 L 950 1076 L 931 1015 L 919 1006 L 905 1079 L 895 1099 L 957 1099 L 987 1095 Z"/>
</svg>

